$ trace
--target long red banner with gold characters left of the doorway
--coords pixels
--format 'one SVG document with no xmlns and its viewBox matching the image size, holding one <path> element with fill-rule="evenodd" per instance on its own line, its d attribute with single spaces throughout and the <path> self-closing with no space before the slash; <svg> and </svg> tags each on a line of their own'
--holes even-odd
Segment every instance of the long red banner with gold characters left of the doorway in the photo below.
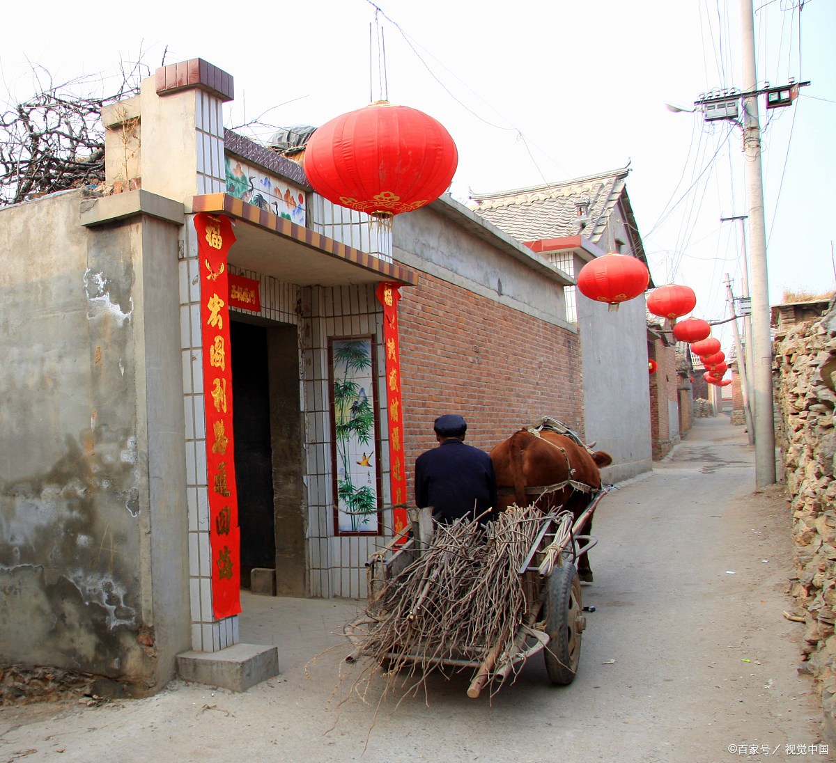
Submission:
<svg viewBox="0 0 836 763">
<path fill-rule="evenodd" d="M 229 347 L 227 254 L 235 242 L 222 215 L 195 215 L 201 266 L 203 394 L 206 409 L 206 479 L 209 485 L 209 545 L 212 550 L 212 610 L 217 619 L 241 612 L 240 530 L 232 443 L 232 364 Z"/>
</svg>

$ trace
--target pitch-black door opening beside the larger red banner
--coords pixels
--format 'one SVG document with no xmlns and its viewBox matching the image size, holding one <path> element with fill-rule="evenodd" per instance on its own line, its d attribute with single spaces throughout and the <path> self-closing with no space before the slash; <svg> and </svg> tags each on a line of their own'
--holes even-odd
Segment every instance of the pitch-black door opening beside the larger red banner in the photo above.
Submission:
<svg viewBox="0 0 836 763">
<path fill-rule="evenodd" d="M 276 566 L 267 337 L 268 330 L 263 326 L 231 322 L 232 421 L 242 588 L 251 588 L 253 567 Z"/>
</svg>

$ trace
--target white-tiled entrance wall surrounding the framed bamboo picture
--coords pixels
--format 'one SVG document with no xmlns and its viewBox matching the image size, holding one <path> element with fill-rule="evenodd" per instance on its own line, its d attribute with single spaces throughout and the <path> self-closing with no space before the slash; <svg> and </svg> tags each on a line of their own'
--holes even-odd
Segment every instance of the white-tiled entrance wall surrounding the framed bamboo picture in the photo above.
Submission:
<svg viewBox="0 0 836 763">
<path fill-rule="evenodd" d="M 303 311 L 309 338 L 303 351 L 304 413 L 308 445 L 308 542 L 309 588 L 312 596 L 363 598 L 366 595 L 365 562 L 385 536 L 334 537 L 334 489 L 331 475 L 331 417 L 329 411 L 329 337 L 375 335 L 377 353 L 378 415 L 381 464 L 388 469 L 386 434 L 385 359 L 380 343 L 382 313 L 374 285 L 305 289 Z M 389 503 L 389 474 L 383 474 L 383 502 Z M 391 516 L 384 512 L 385 532 Z"/>
</svg>

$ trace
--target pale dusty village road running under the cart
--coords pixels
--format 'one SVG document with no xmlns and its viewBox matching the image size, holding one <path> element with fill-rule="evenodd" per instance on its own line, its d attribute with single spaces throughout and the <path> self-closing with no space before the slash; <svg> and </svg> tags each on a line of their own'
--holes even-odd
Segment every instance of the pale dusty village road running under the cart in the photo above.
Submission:
<svg viewBox="0 0 836 763">
<path fill-rule="evenodd" d="M 753 489 L 746 435 L 719 417 L 604 499 L 583 592 L 596 611 L 568 687 L 548 684 L 537 655 L 492 700 L 432 679 L 426 697 L 379 706 L 379 684 L 351 691 L 359 668 L 341 668 L 334 635 L 361 603 L 247 596 L 242 638 L 279 645 L 278 678 L 0 710 L 0 763 L 833 760 L 797 672 L 803 625 L 782 616 L 789 513 L 777 489 Z"/>
</svg>

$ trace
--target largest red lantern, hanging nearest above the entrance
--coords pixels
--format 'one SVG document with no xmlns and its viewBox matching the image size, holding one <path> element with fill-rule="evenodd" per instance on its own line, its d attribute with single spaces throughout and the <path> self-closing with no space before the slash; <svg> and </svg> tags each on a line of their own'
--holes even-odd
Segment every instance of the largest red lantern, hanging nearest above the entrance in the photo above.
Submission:
<svg viewBox="0 0 836 763">
<path fill-rule="evenodd" d="M 456 144 L 441 122 L 388 101 L 326 122 L 308 139 L 303 157 L 314 191 L 375 217 L 435 201 L 457 164 Z"/>
</svg>

